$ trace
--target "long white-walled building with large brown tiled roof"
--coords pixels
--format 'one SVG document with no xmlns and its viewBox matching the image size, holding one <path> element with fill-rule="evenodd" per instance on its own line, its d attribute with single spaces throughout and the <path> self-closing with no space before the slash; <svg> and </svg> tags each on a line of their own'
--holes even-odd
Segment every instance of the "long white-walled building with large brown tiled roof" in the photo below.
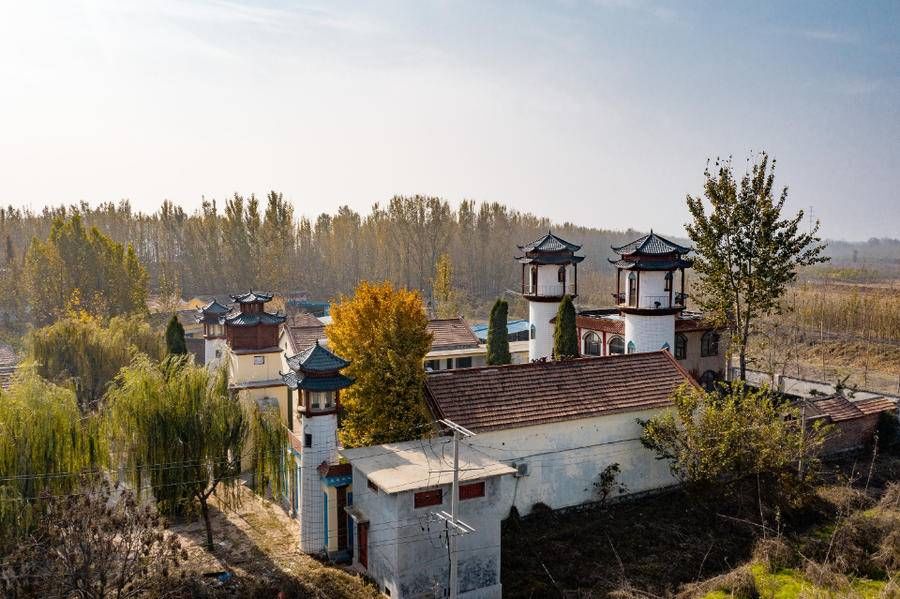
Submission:
<svg viewBox="0 0 900 599">
<path fill-rule="evenodd" d="M 431 373 L 426 399 L 435 418 L 475 432 L 473 447 L 516 468 L 508 505 L 525 515 L 596 501 L 612 464 L 629 493 L 675 484 L 640 444 L 637 420 L 669 408 L 682 384 L 696 382 L 656 351 Z"/>
</svg>

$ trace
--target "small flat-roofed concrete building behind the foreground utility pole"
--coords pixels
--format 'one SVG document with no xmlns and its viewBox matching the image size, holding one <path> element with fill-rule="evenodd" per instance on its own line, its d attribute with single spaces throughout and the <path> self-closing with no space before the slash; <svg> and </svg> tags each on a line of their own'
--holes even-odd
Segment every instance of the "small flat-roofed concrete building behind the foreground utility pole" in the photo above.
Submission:
<svg viewBox="0 0 900 599">
<path fill-rule="evenodd" d="M 460 370 L 459 372 L 463 372 Z M 355 489 L 354 565 L 385 595 L 445 597 L 453 448 L 449 437 L 343 449 Z M 474 532 L 458 537 L 459 596 L 499 599 L 500 521 L 509 513 L 511 467 L 460 444 L 459 519 Z"/>
</svg>

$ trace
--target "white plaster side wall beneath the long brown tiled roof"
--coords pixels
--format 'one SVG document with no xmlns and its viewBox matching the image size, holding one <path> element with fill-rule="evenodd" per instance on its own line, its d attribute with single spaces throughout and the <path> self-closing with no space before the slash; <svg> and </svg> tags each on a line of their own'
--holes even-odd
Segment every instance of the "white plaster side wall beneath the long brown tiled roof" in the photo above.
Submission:
<svg viewBox="0 0 900 599">
<path fill-rule="evenodd" d="M 618 463 L 617 480 L 629 493 L 676 483 L 668 463 L 657 460 L 640 441 L 635 419 L 662 410 L 645 410 L 480 433 L 470 444 L 506 464 L 528 464 L 528 475 L 513 479 L 507 508 L 528 514 L 538 502 L 553 509 L 597 500 L 600 472 Z"/>
</svg>

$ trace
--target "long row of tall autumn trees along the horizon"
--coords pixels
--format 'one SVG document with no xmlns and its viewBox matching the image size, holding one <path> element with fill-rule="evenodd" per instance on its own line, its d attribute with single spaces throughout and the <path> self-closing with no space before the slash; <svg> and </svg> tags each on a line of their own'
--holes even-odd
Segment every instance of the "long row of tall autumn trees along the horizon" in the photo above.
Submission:
<svg viewBox="0 0 900 599">
<path fill-rule="evenodd" d="M 480 304 L 518 289 L 519 273 L 512 261 L 516 245 L 551 226 L 548 219 L 498 203 L 464 201 L 454 208 L 428 196 L 397 196 L 374 204 L 367 214 L 346 206 L 314 218 L 298 217 L 298 212 L 311 211 L 274 191 L 264 199 L 235 194 L 224 202 L 204 200 L 190 214 L 168 201 L 152 214 L 135 212 L 127 201 L 40 213 L 7 208 L 0 210 L 0 240 L 7 245 L 0 265 L 8 265 L 2 268 L 8 286 L 20 282 L 33 287 L 32 309 L 39 322 L 52 320 L 54 310 L 69 302 L 70 280 L 90 282 L 82 285 L 81 301 L 93 301 L 102 283 L 98 273 L 109 269 L 95 269 L 96 259 L 85 258 L 86 246 L 101 248 L 101 254 L 127 261 L 135 270 L 135 293 L 106 298 L 109 302 L 139 302 L 141 284 L 164 296 L 256 287 L 329 299 L 352 292 L 363 279 L 390 281 L 430 298 L 446 290 L 445 281 L 452 276 L 458 297 L 444 296 L 436 307 L 453 311 L 460 298 Z M 587 266 L 579 279 L 587 286 L 591 269 L 609 269 L 609 246 L 638 235 L 572 224 L 554 226 L 554 231 L 585 245 Z M 121 249 L 101 242 L 101 234 Z M 26 254 L 25 263 L 32 265 L 27 276 L 22 269 Z M 50 268 L 54 260 L 62 260 L 68 274 L 51 276 L 57 271 L 37 268 L 42 263 Z M 145 266 L 149 278 L 136 271 L 137 263 Z M 107 311 L 122 309 L 111 305 Z"/>
</svg>

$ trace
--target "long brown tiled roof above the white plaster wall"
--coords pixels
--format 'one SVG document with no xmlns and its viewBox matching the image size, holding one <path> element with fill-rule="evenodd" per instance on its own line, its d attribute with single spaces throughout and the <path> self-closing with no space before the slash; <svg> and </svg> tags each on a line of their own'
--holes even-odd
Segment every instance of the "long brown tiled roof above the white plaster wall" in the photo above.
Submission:
<svg viewBox="0 0 900 599">
<path fill-rule="evenodd" d="M 668 351 L 446 370 L 426 378 L 437 418 L 489 431 L 664 407 L 697 383 Z"/>
</svg>

